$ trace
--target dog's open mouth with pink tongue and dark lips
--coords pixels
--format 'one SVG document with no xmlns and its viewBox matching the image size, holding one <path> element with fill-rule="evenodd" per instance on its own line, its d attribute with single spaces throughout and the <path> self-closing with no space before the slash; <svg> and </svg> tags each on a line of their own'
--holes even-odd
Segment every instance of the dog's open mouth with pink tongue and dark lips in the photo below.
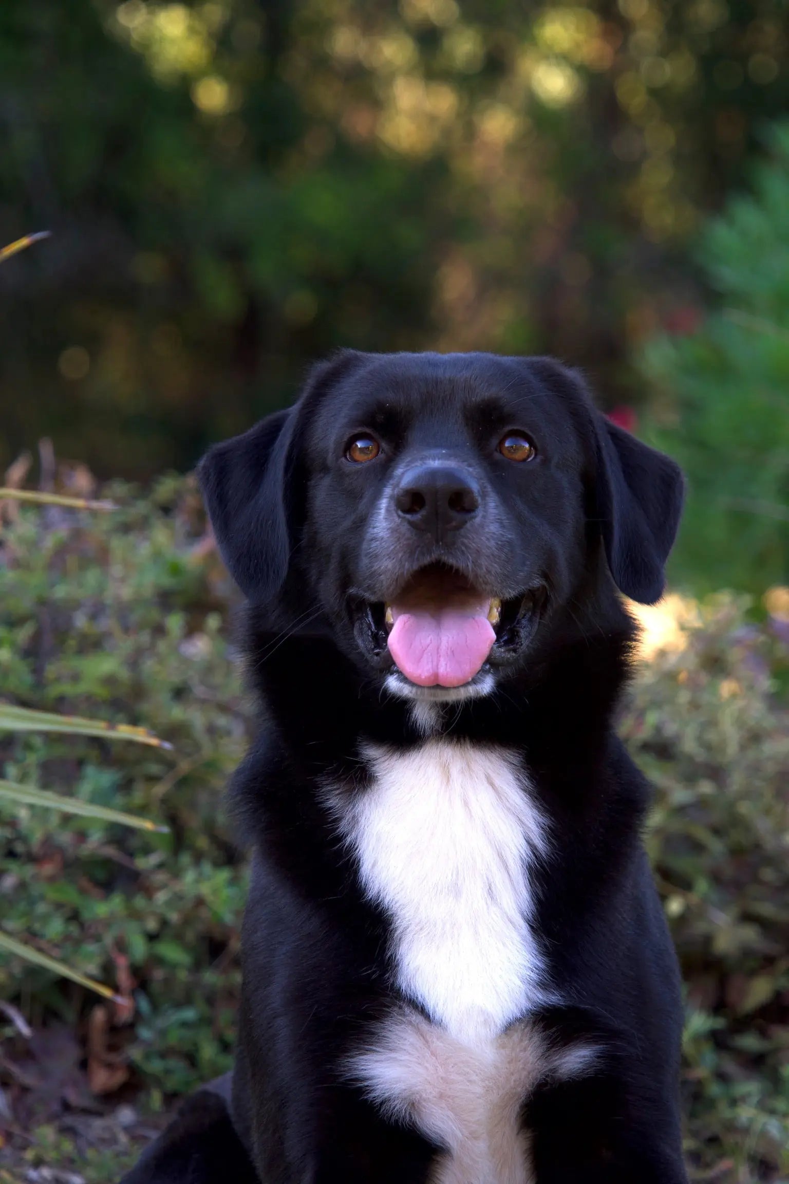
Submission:
<svg viewBox="0 0 789 1184">
<path fill-rule="evenodd" d="M 421 568 L 390 601 L 367 604 L 375 649 L 418 687 L 461 687 L 523 649 L 537 597 L 490 596 L 444 565 Z"/>
</svg>

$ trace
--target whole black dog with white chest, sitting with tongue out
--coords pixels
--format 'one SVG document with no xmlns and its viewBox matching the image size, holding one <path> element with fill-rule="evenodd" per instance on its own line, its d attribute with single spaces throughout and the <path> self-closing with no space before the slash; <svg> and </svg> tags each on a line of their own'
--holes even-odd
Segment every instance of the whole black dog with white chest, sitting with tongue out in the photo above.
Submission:
<svg viewBox="0 0 789 1184">
<path fill-rule="evenodd" d="M 238 1060 L 129 1184 L 683 1184 L 612 727 L 678 468 L 549 359 L 344 352 L 201 481 L 266 708 Z"/>
</svg>

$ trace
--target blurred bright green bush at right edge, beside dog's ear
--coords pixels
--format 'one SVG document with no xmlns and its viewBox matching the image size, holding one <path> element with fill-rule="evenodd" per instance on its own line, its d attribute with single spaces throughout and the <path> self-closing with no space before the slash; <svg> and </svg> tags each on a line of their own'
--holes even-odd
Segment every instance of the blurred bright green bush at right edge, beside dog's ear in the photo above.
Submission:
<svg viewBox="0 0 789 1184">
<path fill-rule="evenodd" d="M 789 584 L 789 124 L 770 147 L 701 239 L 714 310 L 642 353 L 690 487 L 672 572 L 701 591 Z"/>
</svg>

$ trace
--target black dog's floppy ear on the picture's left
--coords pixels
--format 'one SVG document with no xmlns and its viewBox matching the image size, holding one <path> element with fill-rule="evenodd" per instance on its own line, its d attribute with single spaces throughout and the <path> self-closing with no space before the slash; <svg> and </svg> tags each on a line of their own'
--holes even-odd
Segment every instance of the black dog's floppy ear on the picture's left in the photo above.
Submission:
<svg viewBox="0 0 789 1184">
<path fill-rule="evenodd" d="M 227 570 L 247 599 L 270 600 L 287 575 L 298 442 L 305 412 L 364 355 L 343 349 L 310 372 L 298 401 L 248 432 L 215 444 L 198 465 L 208 516 Z"/>
</svg>

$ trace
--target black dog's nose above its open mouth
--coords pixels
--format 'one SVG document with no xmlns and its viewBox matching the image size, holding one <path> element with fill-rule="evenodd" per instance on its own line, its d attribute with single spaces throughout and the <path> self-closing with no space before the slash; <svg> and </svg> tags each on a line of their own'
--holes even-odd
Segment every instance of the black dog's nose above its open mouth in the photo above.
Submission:
<svg viewBox="0 0 789 1184">
<path fill-rule="evenodd" d="M 416 530 L 439 539 L 465 526 L 479 509 L 479 485 L 464 469 L 451 464 L 420 464 L 402 475 L 395 508 Z"/>
</svg>

